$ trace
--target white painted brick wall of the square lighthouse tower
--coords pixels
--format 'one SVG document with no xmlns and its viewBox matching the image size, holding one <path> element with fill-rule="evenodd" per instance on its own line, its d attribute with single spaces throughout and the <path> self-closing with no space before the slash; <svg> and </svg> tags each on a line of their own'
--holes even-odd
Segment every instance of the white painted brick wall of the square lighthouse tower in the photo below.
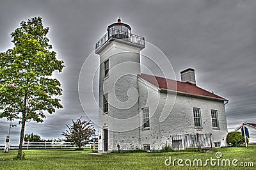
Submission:
<svg viewBox="0 0 256 170">
<path fill-rule="evenodd" d="M 109 77 L 104 79 L 103 63 L 109 59 Z M 108 151 L 134 150 L 139 146 L 138 80 L 140 49 L 111 42 L 100 52 L 99 126 L 108 128 Z M 104 114 L 103 95 L 108 93 L 109 112 Z M 135 117 L 134 117 L 135 116 Z M 136 117 L 137 116 L 137 117 Z M 127 120 L 129 119 L 129 120 Z M 99 152 L 103 151 L 103 133 L 99 129 Z M 125 132 L 125 131 L 129 132 Z"/>
</svg>

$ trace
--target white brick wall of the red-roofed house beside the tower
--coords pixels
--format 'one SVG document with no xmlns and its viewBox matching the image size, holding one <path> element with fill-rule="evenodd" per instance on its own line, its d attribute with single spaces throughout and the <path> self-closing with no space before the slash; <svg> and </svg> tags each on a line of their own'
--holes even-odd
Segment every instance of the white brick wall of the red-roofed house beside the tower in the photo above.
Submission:
<svg viewBox="0 0 256 170">
<path fill-rule="evenodd" d="M 175 94 L 173 93 L 161 93 L 159 96 L 156 89 L 147 88 L 140 81 L 139 89 L 140 107 L 147 102 L 147 106 L 150 109 L 150 116 L 152 116 L 150 118 L 150 130 L 142 130 L 141 132 L 141 144 L 150 144 L 150 150 L 161 150 L 162 145 L 166 144 L 166 141 L 168 143 L 170 142 L 170 135 L 195 133 L 211 133 L 212 146 L 214 146 L 214 142 L 221 142 L 221 146 L 227 146 L 227 120 L 223 101 L 182 95 L 177 95 L 175 98 Z M 146 89 L 151 96 L 148 100 Z M 174 98 L 175 104 L 171 108 Z M 159 105 L 156 107 L 156 104 Z M 194 126 L 193 107 L 200 108 L 202 129 L 195 128 Z M 218 111 L 219 128 L 212 128 L 211 109 Z M 154 110 L 156 112 L 151 112 Z M 161 114 L 168 114 L 168 116 L 163 122 L 159 123 Z"/>
</svg>

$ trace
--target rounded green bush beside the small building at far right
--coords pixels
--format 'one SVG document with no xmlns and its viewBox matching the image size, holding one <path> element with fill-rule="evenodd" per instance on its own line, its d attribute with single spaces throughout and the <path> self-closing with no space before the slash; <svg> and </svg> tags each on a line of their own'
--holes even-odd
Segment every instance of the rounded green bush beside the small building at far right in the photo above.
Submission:
<svg viewBox="0 0 256 170">
<path fill-rule="evenodd" d="M 246 137 L 246 141 L 248 143 L 248 138 Z M 241 132 L 229 132 L 227 135 L 227 143 L 230 144 L 230 146 L 240 146 L 243 144 L 244 137 Z"/>
</svg>

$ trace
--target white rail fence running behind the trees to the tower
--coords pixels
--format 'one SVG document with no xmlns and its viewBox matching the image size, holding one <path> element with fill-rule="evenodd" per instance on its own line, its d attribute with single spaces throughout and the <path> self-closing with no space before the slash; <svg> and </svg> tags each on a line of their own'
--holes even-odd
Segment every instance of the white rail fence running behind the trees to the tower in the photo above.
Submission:
<svg viewBox="0 0 256 170">
<path fill-rule="evenodd" d="M 10 149 L 18 149 L 19 143 L 10 143 Z M 68 148 L 77 148 L 69 142 L 24 142 L 22 149 L 68 149 Z M 88 143 L 82 148 L 93 148 L 93 143 Z M 95 148 L 98 148 L 98 143 L 95 143 Z M 0 150 L 4 149 L 4 144 L 0 144 Z"/>
</svg>

